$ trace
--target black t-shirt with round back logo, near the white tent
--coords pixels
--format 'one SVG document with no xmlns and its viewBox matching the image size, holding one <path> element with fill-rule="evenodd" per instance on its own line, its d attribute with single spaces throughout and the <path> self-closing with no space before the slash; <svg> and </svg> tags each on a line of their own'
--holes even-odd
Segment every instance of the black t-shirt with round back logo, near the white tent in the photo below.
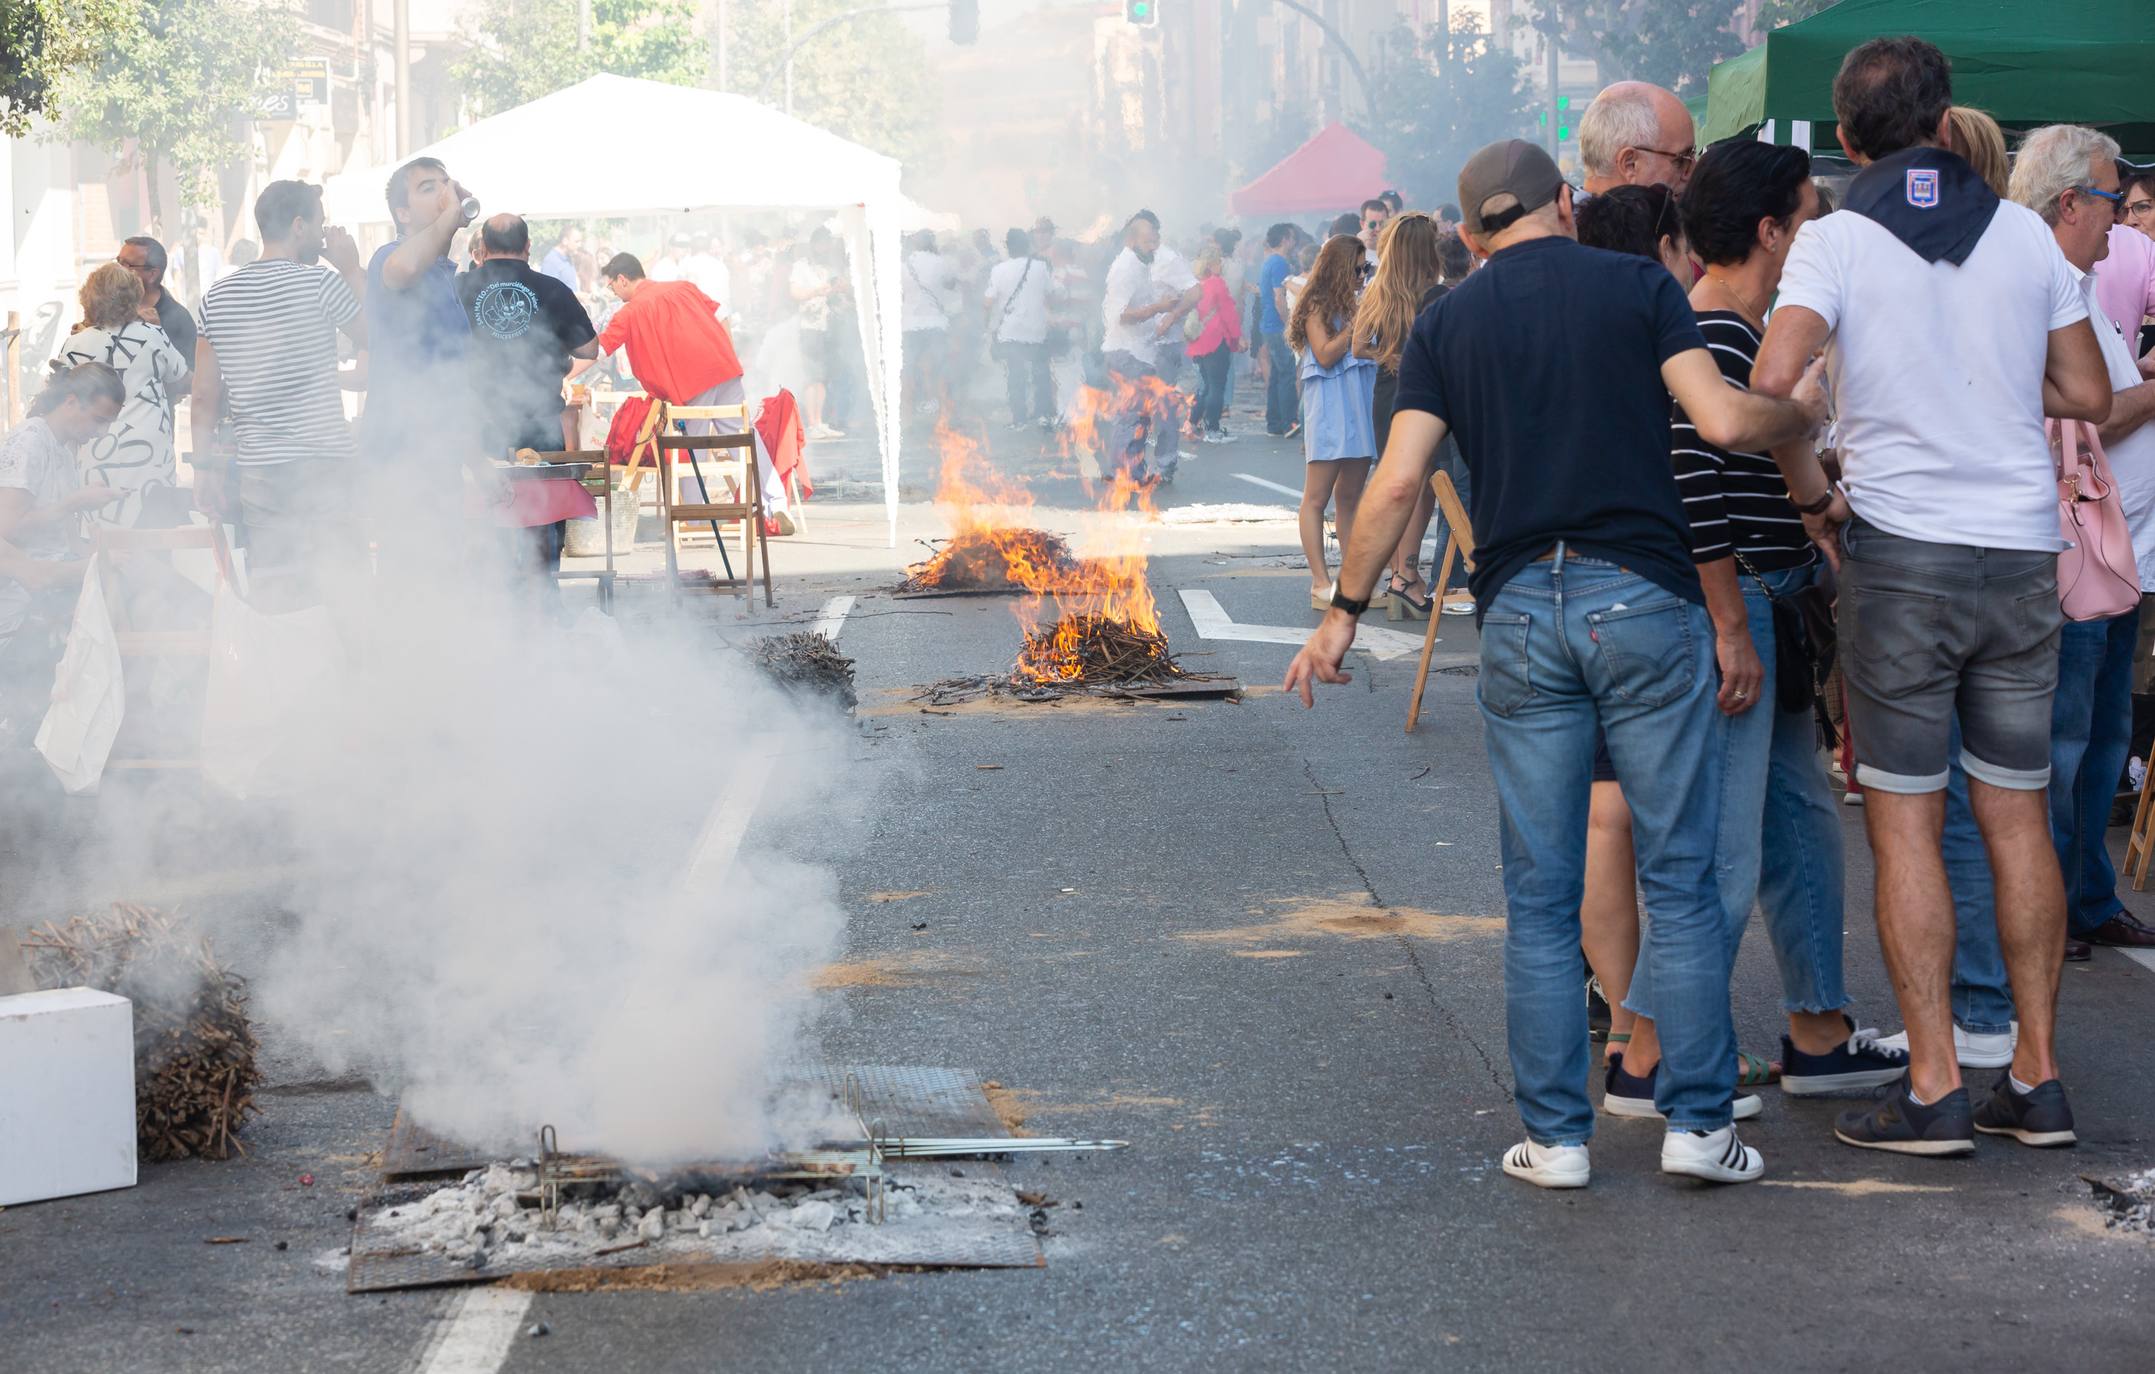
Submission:
<svg viewBox="0 0 2155 1374">
<path fill-rule="evenodd" d="M 487 450 L 560 448 L 569 353 L 597 338 L 584 304 L 522 258 L 487 258 L 457 278 L 457 297 L 472 319 Z"/>
</svg>

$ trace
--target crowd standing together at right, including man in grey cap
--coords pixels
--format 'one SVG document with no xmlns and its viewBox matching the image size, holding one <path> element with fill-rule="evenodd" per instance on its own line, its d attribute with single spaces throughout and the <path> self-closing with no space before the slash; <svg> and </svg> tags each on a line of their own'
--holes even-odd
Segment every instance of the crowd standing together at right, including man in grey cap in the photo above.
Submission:
<svg viewBox="0 0 2155 1374">
<path fill-rule="evenodd" d="M 1396 370 L 1390 429 L 1323 441 L 1381 463 L 1287 681 L 1306 704 L 1347 681 L 1457 444 L 1526 1124 L 1502 1167 L 1541 1187 L 1590 1178 L 1595 1021 L 1599 1107 L 1662 1118 L 1668 1174 L 1758 1178 L 1735 1122 L 1769 1085 L 1868 1096 L 1847 1146 L 2071 1146 L 2060 965 L 2155 945 L 2105 846 L 2155 590 L 2155 179 L 2077 125 L 2008 157 L 1920 39 L 1849 52 L 1834 114 L 1838 198 L 1802 149 L 1698 153 L 1674 95 L 1610 86 L 1582 187 L 1534 144 L 1483 149 L 1459 174 L 1474 269 L 1409 314 L 1381 284 L 1422 230 L 1394 218 L 1351 317 Z M 1306 431 L 1366 394 L 1332 334 L 1366 252 L 1345 228 L 1280 312 Z M 1851 1014 L 1834 730 L 1892 1036 Z M 1730 1006 L 1754 909 L 1771 1057 Z"/>
</svg>

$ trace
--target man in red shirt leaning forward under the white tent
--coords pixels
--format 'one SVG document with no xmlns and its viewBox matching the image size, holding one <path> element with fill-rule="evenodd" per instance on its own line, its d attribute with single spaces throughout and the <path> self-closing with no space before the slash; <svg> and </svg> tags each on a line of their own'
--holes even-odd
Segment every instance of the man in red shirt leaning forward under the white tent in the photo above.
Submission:
<svg viewBox="0 0 2155 1374">
<path fill-rule="evenodd" d="M 599 351 L 627 347 L 629 370 L 644 392 L 668 405 L 743 405 L 741 360 L 733 334 L 718 321 L 718 302 L 694 282 L 655 282 L 634 254 L 616 252 L 599 269 L 621 310 L 599 332 Z M 692 435 L 737 435 L 746 420 L 683 420 Z M 763 469 L 763 510 L 782 534 L 793 532 L 784 485 L 771 472 L 769 454 L 756 446 Z"/>
</svg>

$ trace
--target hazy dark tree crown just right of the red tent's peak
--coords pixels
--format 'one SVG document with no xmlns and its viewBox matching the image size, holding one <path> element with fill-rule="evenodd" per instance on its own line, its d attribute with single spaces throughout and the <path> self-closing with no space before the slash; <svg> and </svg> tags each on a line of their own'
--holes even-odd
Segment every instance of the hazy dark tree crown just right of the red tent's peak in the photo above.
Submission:
<svg viewBox="0 0 2155 1374">
<path fill-rule="evenodd" d="M 1401 24 L 1384 37 L 1388 60 L 1373 75 L 1375 118 L 1362 131 L 1409 205 L 1459 196 L 1459 168 L 1483 144 L 1530 138 L 1534 88 L 1519 58 L 1480 30 L 1476 15 L 1452 24 L 1450 58 L 1440 62 L 1435 26 L 1416 34 Z"/>
</svg>

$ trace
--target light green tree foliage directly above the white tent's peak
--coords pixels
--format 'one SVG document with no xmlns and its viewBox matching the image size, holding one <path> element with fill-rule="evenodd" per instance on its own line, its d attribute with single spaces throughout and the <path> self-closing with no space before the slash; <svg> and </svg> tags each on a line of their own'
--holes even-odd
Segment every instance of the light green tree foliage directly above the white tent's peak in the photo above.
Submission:
<svg viewBox="0 0 2155 1374">
<path fill-rule="evenodd" d="M 696 86 L 709 45 L 694 0 L 590 0 L 590 41 L 575 41 L 578 0 L 481 0 L 463 19 L 472 54 L 453 75 L 476 114 L 500 114 L 610 71 Z"/>
</svg>

